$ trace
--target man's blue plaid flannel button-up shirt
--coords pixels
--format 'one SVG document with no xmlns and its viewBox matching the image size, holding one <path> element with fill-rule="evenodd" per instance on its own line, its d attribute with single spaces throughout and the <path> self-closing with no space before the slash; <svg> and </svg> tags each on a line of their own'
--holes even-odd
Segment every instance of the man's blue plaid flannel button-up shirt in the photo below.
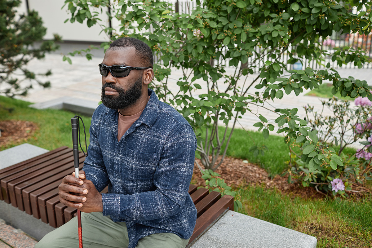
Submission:
<svg viewBox="0 0 372 248">
<path fill-rule="evenodd" d="M 148 90 L 141 116 L 118 142 L 118 110 L 101 104 L 92 116 L 90 145 L 83 170 L 102 194 L 103 215 L 126 222 L 129 248 L 153 233 L 188 239 L 196 208 L 187 193 L 196 138 L 175 109 Z"/>
</svg>

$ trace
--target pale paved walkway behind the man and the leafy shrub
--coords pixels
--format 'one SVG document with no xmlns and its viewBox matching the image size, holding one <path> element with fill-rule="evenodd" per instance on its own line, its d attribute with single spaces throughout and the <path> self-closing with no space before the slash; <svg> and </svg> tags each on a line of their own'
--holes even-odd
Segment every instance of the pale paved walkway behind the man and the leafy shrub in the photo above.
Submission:
<svg viewBox="0 0 372 248">
<path fill-rule="evenodd" d="M 47 54 L 43 61 L 33 60 L 29 64 L 29 69 L 36 73 L 45 72 L 48 69 L 52 69 L 52 75 L 48 77 L 51 81 L 52 87 L 49 89 L 42 89 L 36 86 L 34 89 L 29 91 L 27 97 L 21 99 L 33 102 L 42 103 L 49 100 L 58 99 L 60 97 L 74 97 L 77 99 L 91 100 L 95 102 L 100 101 L 100 88 L 101 75 L 98 72 L 98 64 L 102 62 L 103 56 L 93 57 L 92 60 L 87 61 L 85 57 L 73 57 L 73 64 L 70 65 L 66 61 L 62 61 L 60 54 Z M 228 74 L 234 73 L 231 69 L 227 69 Z M 341 69 L 339 73 L 342 77 L 352 76 L 360 80 L 366 80 L 369 85 L 372 86 L 372 69 Z M 173 92 L 177 92 L 178 86 L 176 85 L 178 78 L 182 77 L 181 71 L 172 71 L 169 79 L 169 88 Z M 247 84 L 256 78 L 257 75 L 250 75 L 247 78 Z M 197 80 L 197 83 L 203 85 L 202 80 Z M 238 84 L 242 85 L 243 81 L 238 81 Z M 151 86 L 150 86 L 151 87 Z M 221 89 L 221 88 L 220 88 Z M 250 89 L 250 93 L 254 94 L 258 91 L 255 88 Z M 195 94 L 206 93 L 202 90 L 195 91 Z M 310 104 L 314 106 L 314 110 L 320 111 L 322 108 L 321 101 L 318 97 L 305 96 L 306 92 L 300 93 L 298 97 L 292 92 L 289 95 L 284 95 L 282 99 L 275 99 L 274 101 L 268 101 L 265 106 L 270 109 L 276 108 L 298 108 L 298 115 L 301 118 L 305 117 L 305 111 L 303 106 Z M 271 106 L 270 106 L 271 105 Z M 254 105 L 249 106 L 253 113 L 256 115 L 261 114 L 265 116 L 269 123 L 274 123 L 274 120 L 279 116 L 277 113 L 267 110 L 263 107 L 257 107 Z M 324 115 L 331 115 L 331 111 L 325 109 Z M 242 119 L 239 119 L 237 128 L 244 128 L 248 130 L 257 131 L 257 128 L 253 126 L 254 123 L 258 122 L 257 116 L 247 112 Z M 221 123 L 222 124 L 222 123 Z M 232 122 L 231 122 L 232 124 Z M 351 133 L 350 133 L 351 135 Z"/>
</svg>

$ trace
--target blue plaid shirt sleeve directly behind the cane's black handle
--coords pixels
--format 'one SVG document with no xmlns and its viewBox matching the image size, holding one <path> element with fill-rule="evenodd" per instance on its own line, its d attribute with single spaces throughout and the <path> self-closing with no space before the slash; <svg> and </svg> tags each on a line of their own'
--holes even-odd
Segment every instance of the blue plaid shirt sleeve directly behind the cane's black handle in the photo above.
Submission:
<svg viewBox="0 0 372 248">
<path fill-rule="evenodd" d="M 98 108 L 96 110 L 98 112 Z M 100 125 L 100 118 L 97 113 L 93 113 L 92 123 L 90 125 L 89 133 L 89 147 L 88 157 L 84 161 L 83 171 L 85 171 L 86 178 L 94 184 L 96 189 L 100 192 L 109 183 L 109 177 L 103 162 L 102 151 L 98 143 L 98 127 Z"/>
</svg>

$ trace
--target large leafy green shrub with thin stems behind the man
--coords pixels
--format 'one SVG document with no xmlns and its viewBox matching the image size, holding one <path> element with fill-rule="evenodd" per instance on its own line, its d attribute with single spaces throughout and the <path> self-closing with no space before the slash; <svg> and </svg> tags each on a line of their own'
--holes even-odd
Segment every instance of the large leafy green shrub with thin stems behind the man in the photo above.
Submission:
<svg viewBox="0 0 372 248">
<path fill-rule="evenodd" d="M 365 81 L 356 84 L 341 78 L 324 62 L 327 56 L 339 66 L 354 62 L 361 67 L 370 61 L 365 52 L 350 47 L 326 51 L 321 46 L 333 30 L 368 34 L 372 23 L 368 0 L 206 0 L 203 5 L 197 0 L 189 13 L 174 11 L 167 1 L 118 0 L 110 4 L 108 0 L 66 0 L 65 4 L 71 12 L 70 22 L 87 19 L 88 26 L 99 24 L 111 40 L 131 36 L 150 45 L 162 62 L 154 65 L 153 87 L 160 99 L 175 106 L 192 125 L 198 136 L 196 155 L 206 169 L 215 170 L 222 163 L 236 122 L 251 112 L 250 106 L 266 107 L 270 100 L 293 91 L 298 96 L 324 80 L 333 82 L 334 93 L 372 100 L 371 87 Z M 363 11 L 356 15 L 353 8 Z M 118 28 L 102 22 L 99 10 L 109 20 L 118 20 Z M 107 43 L 102 46 L 108 48 Z M 288 60 L 283 60 L 283 54 Z M 305 59 L 324 64 L 324 69 L 292 70 L 292 64 L 304 64 Z M 226 73 L 227 67 L 234 73 Z M 176 69 L 183 76 L 177 80 L 178 90 L 172 92 L 168 83 L 171 70 Z M 247 81 L 257 71 L 259 76 Z M 257 91 L 250 94 L 253 87 Z M 301 137 L 302 149 L 308 152 L 302 156 L 305 165 L 311 164 L 313 169 L 330 161 L 339 164 L 338 155 L 320 144 L 317 132 L 296 115 L 297 109 L 273 111 L 278 113 L 275 122 L 282 127 L 278 133 L 285 133 L 286 142 Z M 275 126 L 266 117 L 251 113 L 261 120 L 254 126 L 267 138 Z M 221 123 L 222 136 L 218 132 Z M 262 149 L 253 146 L 251 151 Z M 308 156 L 311 152 L 326 155 L 314 161 Z"/>
</svg>

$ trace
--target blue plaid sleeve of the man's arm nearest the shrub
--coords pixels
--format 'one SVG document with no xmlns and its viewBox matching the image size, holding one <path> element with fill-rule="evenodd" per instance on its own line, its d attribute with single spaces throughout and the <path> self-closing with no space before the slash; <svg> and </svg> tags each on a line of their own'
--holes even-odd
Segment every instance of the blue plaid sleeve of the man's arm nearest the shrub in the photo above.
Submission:
<svg viewBox="0 0 372 248">
<path fill-rule="evenodd" d="M 103 215 L 141 223 L 178 213 L 188 196 L 195 149 L 195 133 L 189 125 L 173 130 L 154 173 L 156 190 L 131 195 L 102 194 Z"/>
</svg>

